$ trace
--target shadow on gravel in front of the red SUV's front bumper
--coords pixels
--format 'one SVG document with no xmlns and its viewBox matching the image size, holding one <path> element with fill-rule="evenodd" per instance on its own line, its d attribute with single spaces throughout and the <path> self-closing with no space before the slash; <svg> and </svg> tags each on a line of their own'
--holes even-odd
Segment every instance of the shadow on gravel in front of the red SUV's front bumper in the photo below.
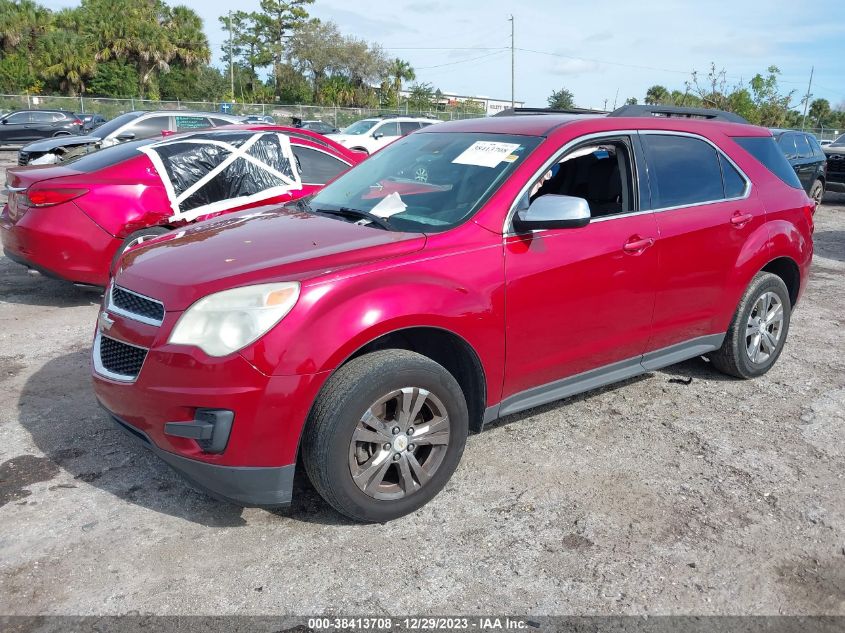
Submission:
<svg viewBox="0 0 845 633">
<path fill-rule="evenodd" d="M 49 361 L 26 382 L 18 419 L 44 455 L 66 471 L 67 487 L 94 486 L 135 505 L 207 527 L 246 525 L 244 509 L 198 491 L 142 444 L 118 428 L 97 404 L 88 349 Z M 339 525 L 347 519 L 327 506 L 297 468 L 290 507 L 269 510 L 280 518 Z"/>
</svg>

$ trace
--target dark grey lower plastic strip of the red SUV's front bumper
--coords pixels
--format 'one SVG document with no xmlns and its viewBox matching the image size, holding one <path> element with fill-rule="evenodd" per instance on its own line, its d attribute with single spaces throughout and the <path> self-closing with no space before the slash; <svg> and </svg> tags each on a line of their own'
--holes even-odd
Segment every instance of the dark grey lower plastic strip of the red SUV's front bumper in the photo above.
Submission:
<svg viewBox="0 0 845 633">
<path fill-rule="evenodd" d="M 238 467 L 206 464 L 160 449 L 146 433 L 109 411 L 114 423 L 150 449 L 197 488 L 214 497 L 241 506 L 287 505 L 293 494 L 295 467 Z"/>
</svg>

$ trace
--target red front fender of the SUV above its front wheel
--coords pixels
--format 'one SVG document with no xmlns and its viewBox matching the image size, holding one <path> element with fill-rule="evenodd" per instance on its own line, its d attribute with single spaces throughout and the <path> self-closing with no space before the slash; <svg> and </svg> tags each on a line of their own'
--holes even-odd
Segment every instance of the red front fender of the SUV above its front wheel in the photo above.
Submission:
<svg viewBox="0 0 845 633">
<path fill-rule="evenodd" d="M 410 261 L 307 283 L 291 313 L 241 354 L 267 375 L 328 376 L 385 334 L 437 328 L 474 350 L 488 399 L 498 401 L 505 354 L 503 246 L 500 236 L 476 230 L 486 239 L 473 248 L 426 248 Z"/>
</svg>

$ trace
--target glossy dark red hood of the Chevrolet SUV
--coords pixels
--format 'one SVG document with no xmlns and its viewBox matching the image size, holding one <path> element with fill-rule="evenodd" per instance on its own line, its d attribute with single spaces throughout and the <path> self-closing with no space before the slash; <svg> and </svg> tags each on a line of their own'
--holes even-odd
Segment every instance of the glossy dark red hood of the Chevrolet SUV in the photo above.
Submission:
<svg viewBox="0 0 845 633">
<path fill-rule="evenodd" d="M 169 233 L 130 250 L 117 282 L 184 310 L 212 292 L 272 281 L 297 281 L 355 264 L 412 253 L 418 233 L 262 207 Z"/>
</svg>

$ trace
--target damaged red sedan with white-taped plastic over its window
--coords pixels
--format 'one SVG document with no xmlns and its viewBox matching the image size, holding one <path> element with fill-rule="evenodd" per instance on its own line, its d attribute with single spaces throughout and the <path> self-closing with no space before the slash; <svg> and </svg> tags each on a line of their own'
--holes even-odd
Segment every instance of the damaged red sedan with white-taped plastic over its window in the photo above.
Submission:
<svg viewBox="0 0 845 633">
<path fill-rule="evenodd" d="M 284 161 L 284 139 L 296 177 Z M 202 186 L 227 153 L 247 142 L 254 143 L 249 160 L 231 162 Z M 62 165 L 8 170 L 0 237 L 12 260 L 103 287 L 112 261 L 135 244 L 236 209 L 312 195 L 364 158 L 319 135 L 279 126 L 129 141 Z"/>
</svg>

